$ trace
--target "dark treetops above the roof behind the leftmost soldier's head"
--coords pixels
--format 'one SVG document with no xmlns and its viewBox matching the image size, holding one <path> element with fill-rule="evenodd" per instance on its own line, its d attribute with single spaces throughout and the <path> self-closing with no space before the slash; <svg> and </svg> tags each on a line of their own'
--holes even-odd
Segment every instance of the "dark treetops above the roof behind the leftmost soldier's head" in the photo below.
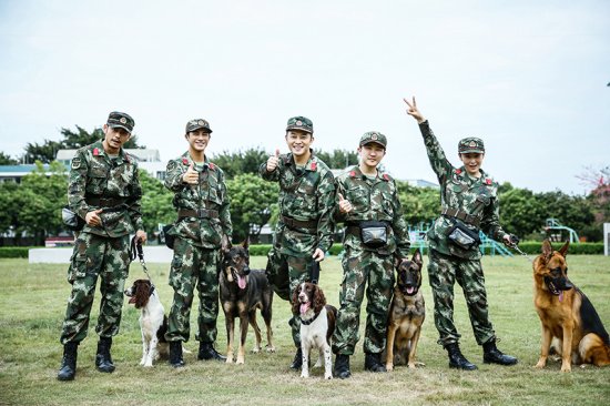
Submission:
<svg viewBox="0 0 610 406">
<path fill-rule="evenodd" d="M 94 129 L 92 132 L 88 132 L 79 125 L 77 125 L 75 132 L 69 129 L 61 129 L 60 132 L 63 136 L 61 141 L 44 140 L 40 145 L 38 143 L 28 143 L 26 145 L 26 154 L 23 155 L 24 161 L 50 163 L 55 159 L 59 150 L 79 149 L 104 138 L 102 129 Z M 130 140 L 123 144 L 123 148 L 136 149 L 144 146 L 138 145 L 138 135 L 132 135 Z"/>
</svg>

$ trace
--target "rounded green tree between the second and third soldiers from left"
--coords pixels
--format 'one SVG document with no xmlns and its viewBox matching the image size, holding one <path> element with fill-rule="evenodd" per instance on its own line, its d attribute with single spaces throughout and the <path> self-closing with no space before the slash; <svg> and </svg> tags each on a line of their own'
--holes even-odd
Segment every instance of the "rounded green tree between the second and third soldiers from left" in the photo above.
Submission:
<svg viewBox="0 0 610 406">
<path fill-rule="evenodd" d="M 242 241 L 251 235 L 256 241 L 261 229 L 276 211 L 279 186 L 256 174 L 244 173 L 228 180 L 226 189 L 231 196 L 233 240 Z"/>
</svg>

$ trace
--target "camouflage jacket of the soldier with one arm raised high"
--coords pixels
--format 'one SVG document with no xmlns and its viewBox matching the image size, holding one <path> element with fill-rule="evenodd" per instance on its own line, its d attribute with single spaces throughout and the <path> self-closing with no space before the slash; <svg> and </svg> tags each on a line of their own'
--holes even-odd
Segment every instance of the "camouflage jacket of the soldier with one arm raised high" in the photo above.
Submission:
<svg viewBox="0 0 610 406">
<path fill-rule="evenodd" d="M 467 175 L 464 166 L 454 168 L 438 140 L 430 130 L 428 121 L 419 124 L 430 165 L 440 184 L 440 203 L 443 207 L 458 209 L 480 220 L 480 230 L 491 238 L 501 241 L 506 232 L 499 222 L 498 184 L 485 172 L 477 180 Z M 460 220 L 455 220 L 460 222 Z M 481 254 L 478 247 L 468 251 L 449 243 L 447 232 L 453 226 L 451 220 L 439 216 L 428 232 L 430 248 L 441 254 L 456 255 L 462 258 L 477 260 Z M 471 230 L 476 230 L 469 226 Z"/>
</svg>

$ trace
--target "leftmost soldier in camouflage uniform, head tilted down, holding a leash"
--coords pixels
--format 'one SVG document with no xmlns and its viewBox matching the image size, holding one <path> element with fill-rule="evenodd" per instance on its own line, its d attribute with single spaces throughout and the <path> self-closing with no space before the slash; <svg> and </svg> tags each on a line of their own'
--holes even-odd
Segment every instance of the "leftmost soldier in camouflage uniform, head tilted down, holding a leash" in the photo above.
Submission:
<svg viewBox="0 0 610 406">
<path fill-rule="evenodd" d="M 63 359 L 60 380 L 71 380 L 77 372 L 77 352 L 87 336 L 98 277 L 102 294 L 95 332 L 100 335 L 95 366 L 112 373 L 112 337 L 119 333 L 123 287 L 129 272 L 129 234 L 135 231 L 143 243 L 140 200 L 142 189 L 138 163 L 122 145 L 130 139 L 133 119 L 112 112 L 103 126 L 104 139 L 77 151 L 68 186 L 70 210 L 85 221 L 78 233 L 68 270 L 72 293 L 61 331 Z"/>
</svg>

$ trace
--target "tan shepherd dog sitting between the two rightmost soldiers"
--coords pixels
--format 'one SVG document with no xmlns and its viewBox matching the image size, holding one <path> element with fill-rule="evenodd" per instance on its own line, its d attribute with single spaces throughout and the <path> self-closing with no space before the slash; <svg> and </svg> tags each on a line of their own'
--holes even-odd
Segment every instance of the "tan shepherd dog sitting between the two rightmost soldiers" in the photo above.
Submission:
<svg viewBox="0 0 610 406">
<path fill-rule="evenodd" d="M 410 261 L 398 265 L 398 278 L 389 307 L 386 351 L 382 354 L 382 357 L 385 355 L 387 371 L 393 371 L 394 365 L 407 364 L 409 368 L 425 365 L 415 361 L 421 324 L 426 317 L 424 295 L 419 291 L 421 265 L 419 248 Z"/>
</svg>

